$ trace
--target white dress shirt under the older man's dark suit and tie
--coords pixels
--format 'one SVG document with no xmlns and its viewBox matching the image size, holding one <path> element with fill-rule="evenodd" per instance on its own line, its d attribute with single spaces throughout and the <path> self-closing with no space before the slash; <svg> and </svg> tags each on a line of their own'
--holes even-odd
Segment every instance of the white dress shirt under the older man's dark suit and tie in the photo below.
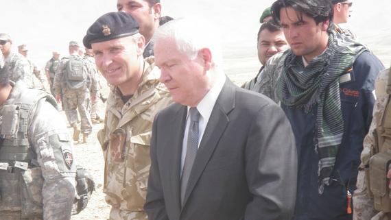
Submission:
<svg viewBox="0 0 391 220">
<path fill-rule="evenodd" d="M 217 77 L 215 84 L 213 84 L 212 88 L 208 93 L 202 98 L 200 103 L 197 105 L 197 110 L 200 112 L 200 121 L 198 122 L 198 147 L 200 147 L 200 143 L 202 140 L 202 136 L 204 136 L 206 125 L 208 124 L 209 118 L 211 117 L 213 107 L 215 106 L 217 97 L 219 97 L 220 92 L 226 82 L 226 76 L 221 74 Z M 182 175 L 183 164 L 185 164 L 186 151 L 187 151 L 187 136 L 189 136 L 189 127 L 190 127 L 190 117 L 189 117 L 190 107 L 187 106 L 187 117 L 186 117 L 186 126 L 185 126 L 185 134 L 183 136 L 182 142 L 182 158 L 180 164 L 180 173 Z"/>
</svg>

